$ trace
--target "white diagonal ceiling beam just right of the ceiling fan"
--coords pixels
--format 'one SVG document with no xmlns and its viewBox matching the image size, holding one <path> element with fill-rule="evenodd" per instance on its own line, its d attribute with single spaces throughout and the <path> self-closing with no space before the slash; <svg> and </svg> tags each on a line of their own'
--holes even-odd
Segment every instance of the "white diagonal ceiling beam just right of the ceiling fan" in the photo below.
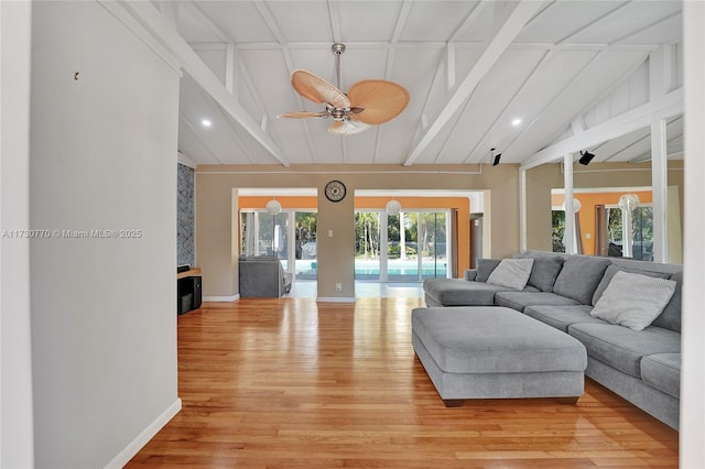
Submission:
<svg viewBox="0 0 705 469">
<path fill-rule="evenodd" d="M 412 165 L 419 156 L 421 156 L 421 153 L 438 135 L 441 129 L 443 129 L 451 118 L 453 118 L 453 114 L 460 108 L 460 106 L 463 106 L 463 102 L 465 102 L 465 100 L 473 94 L 475 87 L 477 87 L 485 75 L 487 75 L 492 65 L 495 65 L 509 44 L 511 44 L 514 37 L 517 37 L 524 24 L 527 24 L 540 7 L 541 2 L 539 1 L 524 0 L 517 4 L 507 21 L 505 21 L 501 28 L 497 31 L 497 34 L 495 34 L 491 41 L 489 41 L 485 52 L 477 61 L 470 73 L 465 77 L 453 96 L 451 96 L 445 108 L 441 110 L 438 117 L 411 151 L 404 161 L 404 166 Z"/>
</svg>

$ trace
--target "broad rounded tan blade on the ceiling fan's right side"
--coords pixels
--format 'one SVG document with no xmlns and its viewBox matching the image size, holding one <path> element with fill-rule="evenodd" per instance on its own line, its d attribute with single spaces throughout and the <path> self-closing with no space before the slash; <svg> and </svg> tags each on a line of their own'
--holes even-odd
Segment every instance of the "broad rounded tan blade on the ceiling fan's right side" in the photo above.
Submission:
<svg viewBox="0 0 705 469">
<path fill-rule="evenodd" d="M 365 108 L 352 119 L 377 126 L 399 116 L 409 103 L 409 91 L 401 85 L 383 79 L 358 81 L 348 91 L 350 106 Z"/>
</svg>

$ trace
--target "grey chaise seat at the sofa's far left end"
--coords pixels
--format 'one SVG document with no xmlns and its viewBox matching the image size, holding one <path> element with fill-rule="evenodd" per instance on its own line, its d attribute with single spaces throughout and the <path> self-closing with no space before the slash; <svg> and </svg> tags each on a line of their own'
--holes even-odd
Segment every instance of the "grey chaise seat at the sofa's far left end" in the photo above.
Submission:
<svg viewBox="0 0 705 469">
<path fill-rule="evenodd" d="M 462 279 L 429 279 L 423 290 L 426 297 L 435 301 L 431 302 L 434 306 L 492 306 L 495 293 L 509 288 Z"/>
</svg>

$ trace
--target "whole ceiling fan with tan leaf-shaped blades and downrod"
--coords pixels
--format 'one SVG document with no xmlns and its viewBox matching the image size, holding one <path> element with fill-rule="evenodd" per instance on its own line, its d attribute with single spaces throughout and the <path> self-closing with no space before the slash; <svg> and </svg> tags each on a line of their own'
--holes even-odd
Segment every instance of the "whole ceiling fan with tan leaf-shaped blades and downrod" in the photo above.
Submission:
<svg viewBox="0 0 705 469">
<path fill-rule="evenodd" d="M 384 123 L 404 110 L 409 103 L 409 91 L 401 85 L 383 79 L 366 79 L 350 87 L 347 95 L 340 91 L 340 55 L 345 45 L 333 44 L 337 88 L 323 78 L 306 70 L 294 70 L 291 84 L 301 96 L 324 105 L 319 112 L 288 112 L 280 118 L 333 118 L 328 132 L 336 135 L 351 135 Z"/>
</svg>

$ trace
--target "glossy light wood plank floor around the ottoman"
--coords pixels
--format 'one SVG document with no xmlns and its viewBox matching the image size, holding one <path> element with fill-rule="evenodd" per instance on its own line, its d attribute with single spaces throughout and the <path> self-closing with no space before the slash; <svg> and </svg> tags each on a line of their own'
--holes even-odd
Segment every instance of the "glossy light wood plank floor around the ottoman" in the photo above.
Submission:
<svg viewBox="0 0 705 469">
<path fill-rule="evenodd" d="M 411 347 L 416 306 L 240 299 L 180 316 L 183 410 L 128 467 L 677 467 L 677 433 L 590 380 L 576 405 L 446 408 Z"/>
</svg>

